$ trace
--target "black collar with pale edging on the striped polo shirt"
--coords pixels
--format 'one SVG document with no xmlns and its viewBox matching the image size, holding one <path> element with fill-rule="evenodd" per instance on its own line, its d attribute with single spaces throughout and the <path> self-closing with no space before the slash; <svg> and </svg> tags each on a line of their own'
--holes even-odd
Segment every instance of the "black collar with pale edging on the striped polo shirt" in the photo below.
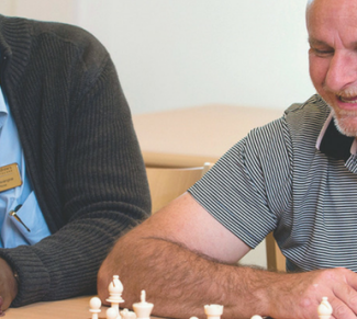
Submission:
<svg viewBox="0 0 357 319">
<path fill-rule="evenodd" d="M 343 135 L 338 132 L 330 113 L 324 126 L 322 127 L 316 148 L 328 157 L 347 161 L 350 155 L 356 155 L 357 143 L 355 137 Z"/>
</svg>

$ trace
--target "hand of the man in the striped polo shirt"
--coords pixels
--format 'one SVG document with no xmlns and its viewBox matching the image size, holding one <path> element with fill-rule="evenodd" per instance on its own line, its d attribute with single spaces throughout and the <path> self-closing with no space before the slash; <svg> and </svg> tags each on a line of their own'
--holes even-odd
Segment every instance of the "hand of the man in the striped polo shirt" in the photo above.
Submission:
<svg viewBox="0 0 357 319">
<path fill-rule="evenodd" d="M 274 280 L 272 277 L 270 277 Z M 306 273 L 281 274 L 267 281 L 266 298 L 272 318 L 317 318 L 322 297 L 328 297 L 336 319 L 355 319 L 357 315 L 357 274 L 338 267 Z"/>
</svg>

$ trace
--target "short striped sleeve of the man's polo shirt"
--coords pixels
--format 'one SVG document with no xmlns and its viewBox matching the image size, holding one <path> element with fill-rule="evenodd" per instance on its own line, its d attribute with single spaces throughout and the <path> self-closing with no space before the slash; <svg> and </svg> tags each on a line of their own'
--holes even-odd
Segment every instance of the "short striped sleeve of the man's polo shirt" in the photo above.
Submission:
<svg viewBox="0 0 357 319">
<path fill-rule="evenodd" d="M 189 193 L 255 248 L 277 227 L 291 201 L 291 139 L 285 118 L 253 129 Z"/>
</svg>

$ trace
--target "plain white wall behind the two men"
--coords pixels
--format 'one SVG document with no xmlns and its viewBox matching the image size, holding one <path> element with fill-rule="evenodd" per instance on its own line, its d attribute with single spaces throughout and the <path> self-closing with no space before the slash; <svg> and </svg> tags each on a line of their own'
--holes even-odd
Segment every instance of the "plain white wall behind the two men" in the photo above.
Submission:
<svg viewBox="0 0 357 319">
<path fill-rule="evenodd" d="M 109 49 L 133 113 L 227 103 L 286 109 L 314 92 L 305 0 L 1 0 L 80 25 Z"/>
</svg>

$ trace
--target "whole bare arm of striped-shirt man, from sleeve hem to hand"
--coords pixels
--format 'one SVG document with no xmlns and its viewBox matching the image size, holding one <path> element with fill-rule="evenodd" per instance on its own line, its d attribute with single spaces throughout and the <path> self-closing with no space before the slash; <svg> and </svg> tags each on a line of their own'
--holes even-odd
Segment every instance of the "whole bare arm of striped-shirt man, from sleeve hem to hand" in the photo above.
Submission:
<svg viewBox="0 0 357 319">
<path fill-rule="evenodd" d="M 116 242 L 99 271 L 98 292 L 104 300 L 116 274 L 124 285 L 121 306 L 131 308 L 145 289 L 154 315 L 171 318 L 201 318 L 204 305 L 221 304 L 224 318 L 317 319 L 326 296 L 334 318 L 356 319 L 354 272 L 341 267 L 286 274 L 227 264 L 246 251 L 242 240 L 183 195 Z"/>
</svg>

